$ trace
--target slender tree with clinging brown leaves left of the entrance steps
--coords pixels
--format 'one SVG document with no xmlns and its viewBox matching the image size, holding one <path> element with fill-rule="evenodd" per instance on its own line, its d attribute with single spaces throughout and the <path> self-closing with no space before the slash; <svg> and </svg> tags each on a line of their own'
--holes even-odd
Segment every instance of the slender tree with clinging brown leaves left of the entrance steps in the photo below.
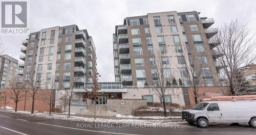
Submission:
<svg viewBox="0 0 256 135">
<path fill-rule="evenodd" d="M 101 89 L 98 84 L 98 80 L 99 80 L 98 77 L 100 77 L 100 75 L 96 71 L 93 79 L 93 89 L 91 91 L 88 91 L 86 89 L 86 91 L 88 91 L 87 93 L 88 98 L 92 99 L 94 103 L 94 119 L 96 119 L 96 102 L 98 101 L 98 97 L 102 95 L 102 92 L 99 92 Z"/>
</svg>

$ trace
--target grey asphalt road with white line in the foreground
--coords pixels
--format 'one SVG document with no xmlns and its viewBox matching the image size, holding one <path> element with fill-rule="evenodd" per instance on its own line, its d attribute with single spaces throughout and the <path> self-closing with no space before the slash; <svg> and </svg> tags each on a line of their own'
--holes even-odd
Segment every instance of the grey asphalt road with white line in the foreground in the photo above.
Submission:
<svg viewBox="0 0 256 135">
<path fill-rule="evenodd" d="M 79 126 L 78 126 L 79 125 Z M 82 127 L 83 126 L 83 127 Z M 86 126 L 86 127 L 84 127 Z M 103 126 L 103 127 L 102 127 Z M 104 127 L 110 126 L 110 127 Z M 100 125 L 98 123 L 82 123 L 65 120 L 45 119 L 0 111 L 0 134 L 197 134 L 197 135 L 255 135 L 256 129 L 247 124 L 230 125 L 214 124 L 208 128 L 199 128 L 196 125 L 180 123 L 179 128 L 170 127 L 119 127 L 125 125 Z"/>
</svg>

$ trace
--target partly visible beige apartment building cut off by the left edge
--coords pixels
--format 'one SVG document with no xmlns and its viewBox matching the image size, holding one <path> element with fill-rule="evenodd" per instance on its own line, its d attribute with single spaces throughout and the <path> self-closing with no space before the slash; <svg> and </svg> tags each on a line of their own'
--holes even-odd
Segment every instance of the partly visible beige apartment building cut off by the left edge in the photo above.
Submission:
<svg viewBox="0 0 256 135">
<path fill-rule="evenodd" d="M 8 55 L 0 56 L 0 92 L 2 88 L 8 88 L 15 79 L 22 79 L 22 76 L 17 75 L 20 71 L 22 70 L 18 68 L 18 60 Z"/>
</svg>

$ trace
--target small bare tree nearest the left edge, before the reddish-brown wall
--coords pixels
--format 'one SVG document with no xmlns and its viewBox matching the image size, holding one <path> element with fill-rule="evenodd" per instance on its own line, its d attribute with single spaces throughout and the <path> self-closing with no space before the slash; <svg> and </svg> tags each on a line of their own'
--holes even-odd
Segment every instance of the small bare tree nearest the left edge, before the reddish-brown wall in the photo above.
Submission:
<svg viewBox="0 0 256 135">
<path fill-rule="evenodd" d="M 15 103 L 15 112 L 17 112 L 17 105 L 21 98 L 24 97 L 24 84 L 19 82 L 17 79 L 13 79 L 10 83 L 10 89 L 8 89 L 9 98 Z"/>
</svg>

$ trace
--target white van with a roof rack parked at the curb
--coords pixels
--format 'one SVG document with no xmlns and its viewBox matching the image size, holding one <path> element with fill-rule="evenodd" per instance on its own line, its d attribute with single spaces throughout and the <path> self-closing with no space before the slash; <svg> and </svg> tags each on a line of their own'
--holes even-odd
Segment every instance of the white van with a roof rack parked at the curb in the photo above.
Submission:
<svg viewBox="0 0 256 135">
<path fill-rule="evenodd" d="M 207 127 L 209 123 L 248 123 L 256 128 L 256 100 L 203 101 L 182 111 L 189 124 Z"/>
</svg>

